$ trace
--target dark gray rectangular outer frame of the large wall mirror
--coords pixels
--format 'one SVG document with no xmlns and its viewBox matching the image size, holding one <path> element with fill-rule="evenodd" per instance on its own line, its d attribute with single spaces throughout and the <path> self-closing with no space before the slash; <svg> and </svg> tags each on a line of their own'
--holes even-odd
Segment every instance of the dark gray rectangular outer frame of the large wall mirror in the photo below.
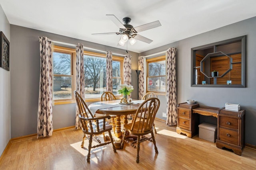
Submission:
<svg viewBox="0 0 256 170">
<path fill-rule="evenodd" d="M 235 43 L 241 41 L 241 61 L 242 61 L 242 80 L 241 84 L 196 84 L 196 70 L 194 65 L 196 63 L 196 51 L 213 48 L 214 46 L 226 45 L 230 43 Z M 211 43 L 208 45 L 202 45 L 200 47 L 191 48 L 191 87 L 231 87 L 231 88 L 245 88 L 246 87 L 246 35 L 241 37 L 236 37 L 224 41 L 219 41 L 216 43 Z"/>
</svg>

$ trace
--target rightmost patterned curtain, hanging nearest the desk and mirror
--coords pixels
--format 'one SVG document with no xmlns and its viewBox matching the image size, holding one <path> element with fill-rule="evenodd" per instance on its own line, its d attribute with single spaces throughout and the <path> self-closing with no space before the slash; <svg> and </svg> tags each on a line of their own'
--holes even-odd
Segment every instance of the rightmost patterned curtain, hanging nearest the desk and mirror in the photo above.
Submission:
<svg viewBox="0 0 256 170">
<path fill-rule="evenodd" d="M 177 125 L 177 96 L 176 96 L 176 48 L 167 50 L 167 125 Z"/>
</svg>

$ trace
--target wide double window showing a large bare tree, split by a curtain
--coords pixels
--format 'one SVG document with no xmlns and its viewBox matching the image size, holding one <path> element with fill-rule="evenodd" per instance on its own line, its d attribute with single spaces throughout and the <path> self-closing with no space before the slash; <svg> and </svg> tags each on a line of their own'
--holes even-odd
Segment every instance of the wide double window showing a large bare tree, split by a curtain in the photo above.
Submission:
<svg viewBox="0 0 256 170">
<path fill-rule="evenodd" d="M 118 94 L 122 84 L 123 58 L 112 56 L 113 94 Z M 106 55 L 84 51 L 85 98 L 94 101 L 106 92 Z"/>
</svg>

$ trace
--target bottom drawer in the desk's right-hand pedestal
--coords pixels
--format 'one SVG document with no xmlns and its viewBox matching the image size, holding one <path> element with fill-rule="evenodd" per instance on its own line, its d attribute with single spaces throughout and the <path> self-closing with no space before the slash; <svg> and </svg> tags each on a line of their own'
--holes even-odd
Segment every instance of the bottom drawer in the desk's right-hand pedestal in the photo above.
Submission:
<svg viewBox="0 0 256 170">
<path fill-rule="evenodd" d="M 238 131 L 232 131 L 220 127 L 219 140 L 233 145 L 239 145 L 238 143 Z"/>
</svg>

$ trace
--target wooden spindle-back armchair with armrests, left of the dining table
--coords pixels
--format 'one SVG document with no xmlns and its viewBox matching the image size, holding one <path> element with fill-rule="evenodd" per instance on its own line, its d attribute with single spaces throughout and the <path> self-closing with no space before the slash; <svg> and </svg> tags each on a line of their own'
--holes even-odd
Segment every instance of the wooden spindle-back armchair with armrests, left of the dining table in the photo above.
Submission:
<svg viewBox="0 0 256 170">
<path fill-rule="evenodd" d="M 110 119 L 109 115 L 103 115 L 100 117 L 94 117 L 86 103 L 84 102 L 83 98 L 78 94 L 78 92 L 74 91 L 75 98 L 76 98 L 76 104 L 78 106 L 79 111 L 79 118 L 82 125 L 82 131 L 84 133 L 83 141 L 81 144 L 81 148 L 84 147 L 84 139 L 87 137 L 89 140 L 88 145 L 88 155 L 87 155 L 87 162 L 90 162 L 90 156 L 91 156 L 91 149 L 96 147 L 101 147 L 104 145 L 108 145 L 112 143 L 113 150 L 116 152 L 116 147 L 114 145 L 114 141 L 111 135 L 112 126 L 106 122 L 106 119 Z M 104 142 L 102 143 L 98 139 L 98 135 L 101 135 L 104 132 L 108 132 L 110 137 L 110 142 Z M 89 137 L 88 137 L 89 136 Z M 99 143 L 98 145 L 92 146 L 92 138 L 95 137 L 96 141 Z"/>
</svg>

